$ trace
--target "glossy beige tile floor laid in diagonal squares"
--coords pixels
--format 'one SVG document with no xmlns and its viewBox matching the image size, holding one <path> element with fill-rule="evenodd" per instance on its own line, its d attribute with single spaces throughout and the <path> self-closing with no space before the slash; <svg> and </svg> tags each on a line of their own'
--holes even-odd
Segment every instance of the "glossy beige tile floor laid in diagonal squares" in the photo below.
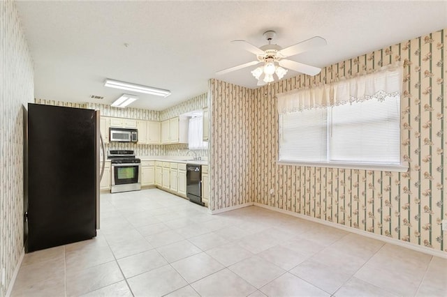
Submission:
<svg viewBox="0 0 447 297">
<path fill-rule="evenodd" d="M 447 260 L 153 189 L 102 195 L 98 236 L 26 254 L 12 296 L 447 296 Z"/>
</svg>

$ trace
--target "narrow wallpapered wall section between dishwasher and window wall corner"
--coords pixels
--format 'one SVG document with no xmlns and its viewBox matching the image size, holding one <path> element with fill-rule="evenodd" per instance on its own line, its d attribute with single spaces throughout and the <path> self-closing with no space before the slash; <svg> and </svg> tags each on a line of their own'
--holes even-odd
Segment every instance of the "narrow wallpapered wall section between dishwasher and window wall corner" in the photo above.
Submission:
<svg viewBox="0 0 447 297">
<path fill-rule="evenodd" d="M 210 209 L 253 200 L 254 91 L 210 79 Z M 270 135 L 270 133 L 268 133 Z"/>
</svg>

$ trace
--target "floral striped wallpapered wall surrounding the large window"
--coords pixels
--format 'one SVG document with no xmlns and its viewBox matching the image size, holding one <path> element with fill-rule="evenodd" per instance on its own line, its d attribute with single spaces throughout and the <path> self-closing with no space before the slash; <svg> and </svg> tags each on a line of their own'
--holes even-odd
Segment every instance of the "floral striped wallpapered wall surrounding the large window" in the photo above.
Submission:
<svg viewBox="0 0 447 297">
<path fill-rule="evenodd" d="M 254 160 L 247 160 L 253 162 L 248 176 L 254 202 L 447 251 L 441 231 L 441 220 L 447 218 L 446 37 L 445 30 L 437 31 L 328 66 L 315 77 L 299 75 L 256 89 L 251 119 Z M 394 61 L 404 64 L 401 138 L 409 172 L 275 164 L 276 93 L 330 83 Z"/>
</svg>

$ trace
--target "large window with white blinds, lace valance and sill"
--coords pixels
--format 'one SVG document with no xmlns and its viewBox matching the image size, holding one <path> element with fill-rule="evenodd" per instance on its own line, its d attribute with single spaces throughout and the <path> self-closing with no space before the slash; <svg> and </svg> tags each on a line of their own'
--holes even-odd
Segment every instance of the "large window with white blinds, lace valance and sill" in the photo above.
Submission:
<svg viewBox="0 0 447 297">
<path fill-rule="evenodd" d="M 279 161 L 405 171 L 400 159 L 400 65 L 277 94 Z"/>
</svg>

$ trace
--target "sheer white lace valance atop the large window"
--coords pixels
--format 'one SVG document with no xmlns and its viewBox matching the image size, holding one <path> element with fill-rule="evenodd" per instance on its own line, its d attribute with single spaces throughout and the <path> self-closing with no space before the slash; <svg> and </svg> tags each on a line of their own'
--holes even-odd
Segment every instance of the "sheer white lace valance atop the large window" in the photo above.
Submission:
<svg viewBox="0 0 447 297">
<path fill-rule="evenodd" d="M 279 114 L 305 109 L 344 105 L 376 98 L 395 98 L 402 92 L 403 67 L 395 63 L 374 73 L 343 77 L 332 84 L 277 94 Z"/>
</svg>

